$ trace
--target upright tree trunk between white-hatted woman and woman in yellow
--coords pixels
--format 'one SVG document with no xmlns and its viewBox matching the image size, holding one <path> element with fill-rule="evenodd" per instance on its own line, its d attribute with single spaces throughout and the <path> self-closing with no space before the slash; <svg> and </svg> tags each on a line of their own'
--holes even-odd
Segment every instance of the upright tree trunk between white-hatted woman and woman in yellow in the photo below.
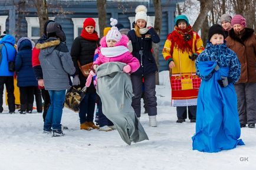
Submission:
<svg viewBox="0 0 256 170">
<path fill-rule="evenodd" d="M 153 0 L 153 4 L 155 7 L 155 30 L 157 35 L 160 36 L 160 31 L 162 29 L 162 6 L 161 0 Z M 159 68 L 159 43 L 152 43 L 153 55 L 156 59 L 156 66 Z M 156 84 L 159 85 L 159 74 L 156 74 Z"/>
</svg>

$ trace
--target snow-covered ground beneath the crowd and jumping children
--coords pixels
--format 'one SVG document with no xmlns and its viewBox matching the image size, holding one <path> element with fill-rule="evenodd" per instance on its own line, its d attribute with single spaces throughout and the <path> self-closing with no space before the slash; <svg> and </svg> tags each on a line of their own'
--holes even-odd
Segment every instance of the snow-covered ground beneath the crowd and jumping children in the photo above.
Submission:
<svg viewBox="0 0 256 170">
<path fill-rule="evenodd" d="M 94 169 L 255 169 L 256 129 L 242 128 L 245 146 L 215 154 L 192 150 L 195 124 L 176 123 L 170 106 L 168 72 L 160 73 L 157 86 L 157 128 L 140 121 L 149 141 L 127 145 L 117 131 L 81 131 L 78 114 L 64 109 L 65 136 L 42 134 L 42 114 L 0 114 L 0 170 Z M 17 111 L 16 111 L 17 112 Z M 142 109 L 142 112 L 144 110 Z"/>
</svg>

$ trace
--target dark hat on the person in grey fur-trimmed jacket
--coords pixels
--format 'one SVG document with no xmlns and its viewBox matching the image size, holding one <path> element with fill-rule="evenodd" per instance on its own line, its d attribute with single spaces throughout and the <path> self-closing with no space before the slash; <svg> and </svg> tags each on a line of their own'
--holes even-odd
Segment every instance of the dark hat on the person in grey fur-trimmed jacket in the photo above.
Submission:
<svg viewBox="0 0 256 170">
<path fill-rule="evenodd" d="M 66 40 L 65 33 L 63 32 L 61 25 L 57 22 L 49 22 L 46 27 L 46 32 L 48 38 L 57 36 L 60 38 L 60 41 L 64 42 Z"/>
</svg>

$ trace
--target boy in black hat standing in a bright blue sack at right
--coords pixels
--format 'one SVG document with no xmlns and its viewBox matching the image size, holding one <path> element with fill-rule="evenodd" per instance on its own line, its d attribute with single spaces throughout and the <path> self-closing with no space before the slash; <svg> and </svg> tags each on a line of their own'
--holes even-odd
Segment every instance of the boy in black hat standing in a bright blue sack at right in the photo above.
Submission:
<svg viewBox="0 0 256 170">
<path fill-rule="evenodd" d="M 196 111 L 193 150 L 219 152 L 244 145 L 241 134 L 237 95 L 241 65 L 234 51 L 224 42 L 221 25 L 212 25 L 205 50 L 196 58 L 196 75 L 201 79 Z"/>
</svg>

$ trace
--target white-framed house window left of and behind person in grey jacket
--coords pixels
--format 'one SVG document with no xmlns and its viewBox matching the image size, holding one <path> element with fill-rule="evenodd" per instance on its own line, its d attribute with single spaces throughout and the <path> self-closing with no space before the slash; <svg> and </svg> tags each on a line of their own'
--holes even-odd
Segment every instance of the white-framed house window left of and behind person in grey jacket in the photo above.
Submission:
<svg viewBox="0 0 256 170">
<path fill-rule="evenodd" d="M 25 17 L 28 23 L 28 38 L 37 40 L 40 38 L 40 26 L 38 17 Z M 54 20 L 55 17 L 49 17 L 50 20 Z"/>
</svg>

